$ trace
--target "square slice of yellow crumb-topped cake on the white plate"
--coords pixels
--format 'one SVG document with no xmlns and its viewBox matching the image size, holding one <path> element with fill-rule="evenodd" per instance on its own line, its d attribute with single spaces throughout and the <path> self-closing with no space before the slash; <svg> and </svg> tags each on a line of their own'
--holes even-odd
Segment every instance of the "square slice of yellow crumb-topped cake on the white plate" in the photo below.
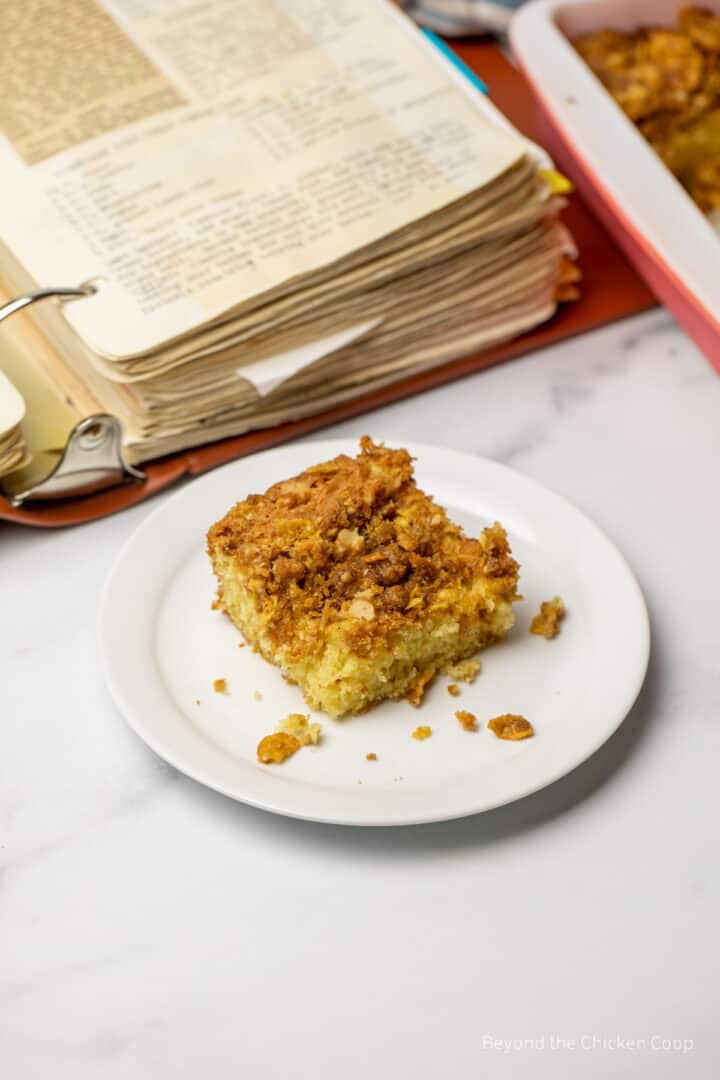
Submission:
<svg viewBox="0 0 720 1080">
<path fill-rule="evenodd" d="M 213 525 L 216 606 L 314 708 L 419 703 L 432 676 L 504 637 L 518 565 L 505 530 L 466 537 L 410 455 L 361 440 Z"/>
</svg>

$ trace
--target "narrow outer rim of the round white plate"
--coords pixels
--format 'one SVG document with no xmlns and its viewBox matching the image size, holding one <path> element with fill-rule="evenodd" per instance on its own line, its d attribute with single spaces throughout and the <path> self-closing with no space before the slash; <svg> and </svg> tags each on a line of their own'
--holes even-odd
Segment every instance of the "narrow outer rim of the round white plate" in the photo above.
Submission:
<svg viewBox="0 0 720 1080">
<path fill-rule="evenodd" d="M 393 445 L 394 440 L 388 440 L 389 444 Z M 118 710 L 125 724 L 131 728 L 132 731 L 139 738 L 149 750 L 158 755 L 166 764 L 171 765 L 173 768 L 177 769 L 184 775 L 189 777 L 196 783 L 223 795 L 234 801 L 245 804 L 246 806 L 254 807 L 258 810 L 264 810 L 269 813 L 280 814 L 282 816 L 293 818 L 300 821 L 313 822 L 316 824 L 328 824 L 328 825 L 347 825 L 354 827 L 405 827 L 408 825 L 423 825 L 439 822 L 453 821 L 461 818 L 473 816 L 479 813 L 486 813 L 491 810 L 498 809 L 502 806 L 507 806 L 512 802 L 519 801 L 520 799 L 527 798 L 528 796 L 536 794 L 545 787 L 551 786 L 558 780 L 566 775 L 569 775 L 575 769 L 580 768 L 585 761 L 592 758 L 601 746 L 608 742 L 609 739 L 617 731 L 620 726 L 628 716 L 630 710 L 633 708 L 637 698 L 642 689 L 648 665 L 650 661 L 650 650 L 651 650 L 651 627 L 650 618 L 648 613 L 648 607 L 640 589 L 639 582 L 633 571 L 633 568 L 628 564 L 624 554 L 616 546 L 614 541 L 608 536 L 604 529 L 600 528 L 592 517 L 589 517 L 583 510 L 580 510 L 571 500 L 567 499 L 562 495 L 558 495 L 552 488 L 546 487 L 539 481 L 534 480 L 532 476 L 528 476 L 526 473 L 506 465 L 503 462 L 494 461 L 492 458 L 487 458 L 481 455 L 473 454 L 467 450 L 458 450 L 450 447 L 437 446 L 430 443 L 417 442 L 415 440 L 403 440 L 402 445 L 409 450 L 413 458 L 430 457 L 430 456 L 440 456 L 446 458 L 457 458 L 462 459 L 465 463 L 473 462 L 476 465 L 480 465 L 488 469 L 491 472 L 495 472 L 499 476 L 505 474 L 506 476 L 512 476 L 516 480 L 522 482 L 522 484 L 529 485 L 534 491 L 544 497 L 549 497 L 551 500 L 557 502 L 565 510 L 570 511 L 573 515 L 579 517 L 586 526 L 590 528 L 596 535 L 599 535 L 604 543 L 608 545 L 612 555 L 617 561 L 619 566 L 625 572 L 626 583 L 629 590 L 628 596 L 631 594 L 633 602 L 636 607 L 637 621 L 634 626 L 634 633 L 636 635 L 636 648 L 638 648 L 639 662 L 634 672 L 634 677 L 627 680 L 627 690 L 623 696 L 623 703 L 619 705 L 613 714 L 613 719 L 608 725 L 602 726 L 597 739 L 588 740 L 583 744 L 582 755 L 576 757 L 572 764 L 567 764 L 562 761 L 557 766 L 556 769 L 549 772 L 543 773 L 536 783 L 530 783 L 522 787 L 521 791 L 511 792 L 506 798 L 495 798 L 489 805 L 483 804 L 478 799 L 477 805 L 467 806 L 462 810 L 451 809 L 447 812 L 438 812 L 434 810 L 427 814 L 411 813 L 408 816 L 402 816 L 394 814 L 392 818 L 368 816 L 363 818 L 358 814 L 348 815 L 331 815 L 328 813 L 316 813 L 309 811 L 301 811 L 297 808 L 286 807 L 283 805 L 273 804 L 263 799 L 261 797 L 254 796 L 253 793 L 249 794 L 239 794 L 236 789 L 232 789 L 228 784 L 218 781 L 215 778 L 207 775 L 202 769 L 198 769 L 192 761 L 188 761 L 184 758 L 182 754 L 176 754 L 172 747 L 167 747 L 163 744 L 162 739 L 155 738 L 155 732 L 152 728 L 148 728 L 147 725 L 142 723 L 141 717 L 138 717 L 135 706 L 128 702 L 125 691 L 121 685 L 118 684 L 114 672 L 112 670 L 111 658 L 107 648 L 107 627 L 108 627 L 108 615 L 111 602 L 111 593 L 113 585 L 116 583 L 116 578 L 119 571 L 123 567 L 125 559 L 131 553 L 132 549 L 141 541 L 142 537 L 147 531 L 152 531 L 155 522 L 163 517 L 167 512 L 168 508 L 181 502 L 189 497 L 189 492 L 192 489 L 204 482 L 207 482 L 210 477 L 216 477 L 218 474 L 223 472 L 230 473 L 231 471 L 242 467 L 243 464 L 247 467 L 252 461 L 257 461 L 258 458 L 268 459 L 271 457 L 284 457 L 291 453 L 294 447 L 303 446 L 312 449 L 313 456 L 317 460 L 325 460 L 326 458 L 342 454 L 342 453 L 356 453 L 357 440 L 345 437 L 345 438 L 331 438 L 331 440 L 310 440 L 308 442 L 299 444 L 283 444 L 281 446 L 270 447 L 266 450 L 259 451 L 259 454 L 247 455 L 242 458 L 236 458 L 233 461 L 226 462 L 225 464 L 218 467 L 217 469 L 209 470 L 202 476 L 198 476 L 192 480 L 189 484 L 184 484 L 176 491 L 165 497 L 160 505 L 155 507 L 131 532 L 131 535 L 124 540 L 119 552 L 113 558 L 111 566 L 106 575 L 105 581 L 103 583 L 98 605 L 97 605 L 97 618 L 96 618 L 96 642 L 97 650 L 99 656 L 100 670 L 103 677 L 105 679 L 109 696 L 113 702 L 114 707 Z M 316 451 L 316 453 L 315 453 Z M 158 610 L 155 609 L 153 617 L 157 618 Z M 154 676 L 158 678 L 158 675 Z M 168 694 L 169 697 L 169 694 Z M 177 706 L 176 706 L 177 707 Z"/>
</svg>

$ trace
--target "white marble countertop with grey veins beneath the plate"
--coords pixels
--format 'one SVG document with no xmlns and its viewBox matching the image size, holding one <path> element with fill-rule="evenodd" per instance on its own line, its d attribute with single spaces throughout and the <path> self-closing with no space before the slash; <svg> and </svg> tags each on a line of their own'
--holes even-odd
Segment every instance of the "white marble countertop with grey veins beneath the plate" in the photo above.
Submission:
<svg viewBox="0 0 720 1080">
<path fill-rule="evenodd" d="M 98 591 L 152 504 L 0 527 L 8 1080 L 720 1075 L 717 376 L 655 312 L 331 433 L 364 431 L 512 462 L 606 528 L 651 612 L 638 704 L 489 814 L 273 818 L 164 766 L 103 686 Z"/>
</svg>

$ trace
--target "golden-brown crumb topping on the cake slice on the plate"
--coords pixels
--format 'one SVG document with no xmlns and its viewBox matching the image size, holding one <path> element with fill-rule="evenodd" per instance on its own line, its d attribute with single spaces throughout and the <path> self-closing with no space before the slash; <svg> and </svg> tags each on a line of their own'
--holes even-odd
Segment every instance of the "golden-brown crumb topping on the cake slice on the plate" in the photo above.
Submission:
<svg viewBox="0 0 720 1080">
<path fill-rule="evenodd" d="M 263 638 L 293 662 L 318 654 L 336 621 L 349 650 L 369 656 L 429 611 L 450 610 L 478 571 L 478 617 L 494 597 L 516 596 L 518 565 L 500 524 L 466 537 L 418 489 L 407 450 L 367 436 L 361 448 L 249 496 L 208 532 L 210 554 L 231 561 L 254 595 Z"/>
</svg>

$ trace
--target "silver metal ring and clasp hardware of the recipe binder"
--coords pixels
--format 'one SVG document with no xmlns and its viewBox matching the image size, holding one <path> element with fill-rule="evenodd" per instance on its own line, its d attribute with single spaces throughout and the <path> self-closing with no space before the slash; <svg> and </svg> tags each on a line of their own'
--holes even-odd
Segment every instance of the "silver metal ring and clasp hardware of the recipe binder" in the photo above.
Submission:
<svg viewBox="0 0 720 1080">
<path fill-rule="evenodd" d="M 58 286 L 24 293 L 0 307 L 0 323 L 38 300 L 71 300 L 92 296 L 95 292 L 94 285 L 86 284 L 74 288 Z M 11 474 L 4 480 L 4 490 L 12 505 L 21 507 L 30 499 L 74 498 L 93 495 L 118 484 L 144 480 L 145 473 L 125 460 L 122 424 L 118 417 L 98 413 L 85 417 L 74 426 L 58 460 L 41 481 L 26 487 L 21 482 L 17 488 L 9 490 Z"/>
</svg>

